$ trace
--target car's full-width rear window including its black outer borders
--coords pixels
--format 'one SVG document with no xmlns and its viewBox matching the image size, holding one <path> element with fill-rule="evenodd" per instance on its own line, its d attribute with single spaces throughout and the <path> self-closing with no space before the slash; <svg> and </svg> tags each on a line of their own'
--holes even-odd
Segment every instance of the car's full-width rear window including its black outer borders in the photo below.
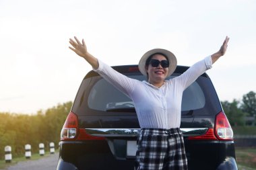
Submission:
<svg viewBox="0 0 256 170">
<path fill-rule="evenodd" d="M 175 73 L 168 77 L 172 79 L 180 74 Z M 132 79 L 143 81 L 146 79 L 143 75 L 128 74 Z M 134 108 L 133 101 L 127 95 L 116 89 L 108 81 L 100 76 L 84 79 L 77 93 L 73 108 L 78 114 L 88 113 L 109 113 L 115 110 L 132 110 Z M 181 111 L 182 114 L 199 114 L 208 115 L 216 114 L 217 110 L 221 110 L 218 97 L 207 77 L 199 77 L 183 92 L 183 100 Z"/>
</svg>

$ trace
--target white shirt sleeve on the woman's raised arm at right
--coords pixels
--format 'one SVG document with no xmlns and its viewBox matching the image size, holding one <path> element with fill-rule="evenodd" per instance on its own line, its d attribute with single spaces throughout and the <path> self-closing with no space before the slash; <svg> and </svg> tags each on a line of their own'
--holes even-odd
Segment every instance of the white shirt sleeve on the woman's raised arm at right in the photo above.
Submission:
<svg viewBox="0 0 256 170">
<path fill-rule="evenodd" d="M 183 75 L 177 77 L 184 89 L 189 87 L 200 75 L 208 69 L 212 69 L 212 57 L 207 56 L 203 60 L 192 65 Z"/>
</svg>

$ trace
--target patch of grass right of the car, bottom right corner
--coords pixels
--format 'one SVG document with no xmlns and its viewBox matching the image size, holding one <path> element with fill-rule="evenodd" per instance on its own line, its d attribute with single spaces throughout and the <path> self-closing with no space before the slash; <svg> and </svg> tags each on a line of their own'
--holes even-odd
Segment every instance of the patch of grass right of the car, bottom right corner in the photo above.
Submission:
<svg viewBox="0 0 256 170">
<path fill-rule="evenodd" d="M 256 169 L 256 148 L 236 148 L 238 169 Z"/>
</svg>

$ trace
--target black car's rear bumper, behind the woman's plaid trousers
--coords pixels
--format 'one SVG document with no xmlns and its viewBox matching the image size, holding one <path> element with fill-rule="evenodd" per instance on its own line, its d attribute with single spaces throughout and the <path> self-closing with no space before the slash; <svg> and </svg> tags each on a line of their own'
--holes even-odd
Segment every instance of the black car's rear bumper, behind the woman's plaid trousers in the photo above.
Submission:
<svg viewBox="0 0 256 170">
<path fill-rule="evenodd" d="M 185 138 L 185 148 L 189 170 L 237 170 L 233 141 Z M 131 170 L 134 163 L 134 159 L 117 159 L 107 140 L 72 141 L 60 143 L 57 170 Z"/>
</svg>

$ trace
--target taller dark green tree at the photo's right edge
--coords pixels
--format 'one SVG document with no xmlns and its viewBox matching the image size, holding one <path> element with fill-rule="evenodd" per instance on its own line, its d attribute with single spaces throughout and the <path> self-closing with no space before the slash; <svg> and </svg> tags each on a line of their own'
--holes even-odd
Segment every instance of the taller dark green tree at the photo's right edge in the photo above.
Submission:
<svg viewBox="0 0 256 170">
<path fill-rule="evenodd" d="M 243 112 L 249 114 L 249 116 L 256 116 L 256 93 L 250 91 L 243 95 L 243 103 L 241 105 Z"/>
</svg>

